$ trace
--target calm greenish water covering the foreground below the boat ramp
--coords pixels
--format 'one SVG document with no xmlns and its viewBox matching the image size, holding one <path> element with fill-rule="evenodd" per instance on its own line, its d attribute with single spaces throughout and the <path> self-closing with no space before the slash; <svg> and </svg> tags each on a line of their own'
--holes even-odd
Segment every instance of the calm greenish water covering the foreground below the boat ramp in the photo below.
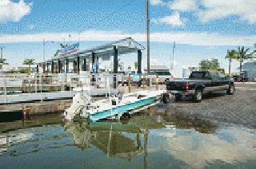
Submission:
<svg viewBox="0 0 256 169">
<path fill-rule="evenodd" d="M 256 130 L 146 112 L 124 122 L 0 124 L 0 168 L 256 168 Z"/>
</svg>

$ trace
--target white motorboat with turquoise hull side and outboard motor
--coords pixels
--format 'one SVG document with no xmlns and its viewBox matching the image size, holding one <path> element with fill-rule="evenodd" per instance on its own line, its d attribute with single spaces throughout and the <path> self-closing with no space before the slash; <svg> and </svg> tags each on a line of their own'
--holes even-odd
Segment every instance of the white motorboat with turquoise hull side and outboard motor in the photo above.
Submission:
<svg viewBox="0 0 256 169">
<path fill-rule="evenodd" d="M 82 116 L 91 121 L 98 121 L 111 117 L 121 117 L 124 113 L 133 113 L 146 106 L 157 103 L 165 90 L 139 91 L 123 94 L 118 92 L 107 99 L 92 100 L 88 91 L 78 92 L 71 107 L 66 109 L 66 120 L 73 120 L 74 116 Z"/>
</svg>

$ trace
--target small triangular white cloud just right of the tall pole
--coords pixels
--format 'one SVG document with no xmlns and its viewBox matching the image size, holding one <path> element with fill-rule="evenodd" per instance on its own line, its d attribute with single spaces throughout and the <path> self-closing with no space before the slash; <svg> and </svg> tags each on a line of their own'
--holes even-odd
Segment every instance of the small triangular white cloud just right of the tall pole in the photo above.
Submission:
<svg viewBox="0 0 256 169">
<path fill-rule="evenodd" d="M 184 22 L 182 22 L 180 15 L 177 11 L 170 16 L 166 16 L 163 18 L 153 18 L 152 22 L 164 23 L 170 26 L 184 26 Z"/>
</svg>

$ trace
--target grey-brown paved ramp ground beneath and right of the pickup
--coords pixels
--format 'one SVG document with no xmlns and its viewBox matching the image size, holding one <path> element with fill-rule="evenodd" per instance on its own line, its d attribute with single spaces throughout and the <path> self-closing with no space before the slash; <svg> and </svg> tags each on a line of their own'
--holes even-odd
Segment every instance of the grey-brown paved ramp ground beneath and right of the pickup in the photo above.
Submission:
<svg viewBox="0 0 256 169">
<path fill-rule="evenodd" d="M 169 104 L 168 112 L 256 128 L 256 90 L 239 88 L 233 96 L 218 92 L 204 96 L 201 103 L 182 100 Z"/>
</svg>

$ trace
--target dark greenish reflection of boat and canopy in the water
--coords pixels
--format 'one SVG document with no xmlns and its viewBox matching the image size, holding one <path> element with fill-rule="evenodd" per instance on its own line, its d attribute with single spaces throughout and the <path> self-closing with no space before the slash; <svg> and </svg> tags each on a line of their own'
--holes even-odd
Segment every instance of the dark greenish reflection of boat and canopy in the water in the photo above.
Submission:
<svg viewBox="0 0 256 169">
<path fill-rule="evenodd" d="M 146 156 L 149 128 L 163 127 L 150 116 L 134 116 L 126 124 L 120 122 L 92 124 L 67 122 L 65 124 L 66 131 L 73 135 L 75 145 L 82 150 L 95 146 L 106 153 L 108 157 L 128 159 L 129 161 L 142 151 Z M 142 141 L 144 147 L 142 147 Z"/>
</svg>

